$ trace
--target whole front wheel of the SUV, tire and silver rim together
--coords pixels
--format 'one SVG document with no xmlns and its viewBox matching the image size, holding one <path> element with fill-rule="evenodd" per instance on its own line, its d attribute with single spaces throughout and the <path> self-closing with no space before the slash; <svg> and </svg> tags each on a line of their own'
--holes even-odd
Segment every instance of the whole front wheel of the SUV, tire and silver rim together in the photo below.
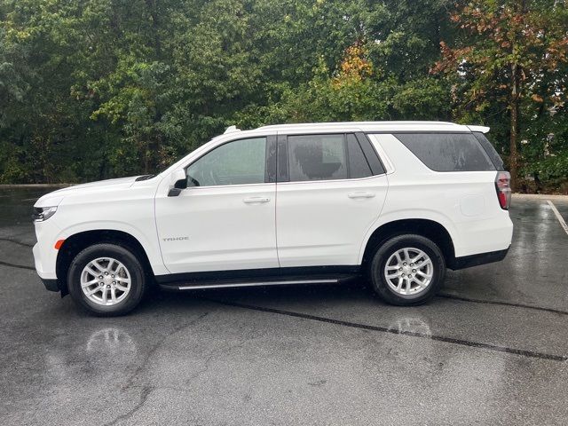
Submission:
<svg viewBox="0 0 568 426">
<path fill-rule="evenodd" d="M 138 306 L 147 283 L 144 268 L 130 248 L 99 243 L 75 256 L 67 272 L 67 287 L 75 304 L 86 312 L 114 317 Z"/>
</svg>

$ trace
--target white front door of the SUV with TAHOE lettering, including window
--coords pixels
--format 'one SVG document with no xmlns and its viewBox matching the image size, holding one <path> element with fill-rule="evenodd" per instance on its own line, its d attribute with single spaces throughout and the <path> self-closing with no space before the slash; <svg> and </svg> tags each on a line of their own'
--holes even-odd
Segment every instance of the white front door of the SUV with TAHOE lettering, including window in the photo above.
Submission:
<svg viewBox="0 0 568 426">
<path fill-rule="evenodd" d="M 273 137 L 217 146 L 186 169 L 177 197 L 156 194 L 156 225 L 164 264 L 172 273 L 279 266 Z M 272 182 L 271 182 L 272 180 Z"/>
</svg>

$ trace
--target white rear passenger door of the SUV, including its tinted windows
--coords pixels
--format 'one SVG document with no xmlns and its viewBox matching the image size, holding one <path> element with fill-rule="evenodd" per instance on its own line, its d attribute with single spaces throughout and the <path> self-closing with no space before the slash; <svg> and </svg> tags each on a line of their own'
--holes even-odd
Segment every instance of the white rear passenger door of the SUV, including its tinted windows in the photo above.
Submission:
<svg viewBox="0 0 568 426">
<path fill-rule="evenodd" d="M 388 182 L 362 133 L 278 137 L 276 234 L 281 267 L 354 265 Z"/>
</svg>

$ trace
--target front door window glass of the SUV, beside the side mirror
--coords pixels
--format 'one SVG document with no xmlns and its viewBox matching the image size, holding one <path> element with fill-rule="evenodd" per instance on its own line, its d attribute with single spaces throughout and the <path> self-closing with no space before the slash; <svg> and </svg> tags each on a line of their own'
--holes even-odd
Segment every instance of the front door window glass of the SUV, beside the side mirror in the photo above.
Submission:
<svg viewBox="0 0 568 426">
<path fill-rule="evenodd" d="M 186 170 L 188 186 L 264 183 L 266 138 L 239 139 L 217 146 Z"/>
</svg>

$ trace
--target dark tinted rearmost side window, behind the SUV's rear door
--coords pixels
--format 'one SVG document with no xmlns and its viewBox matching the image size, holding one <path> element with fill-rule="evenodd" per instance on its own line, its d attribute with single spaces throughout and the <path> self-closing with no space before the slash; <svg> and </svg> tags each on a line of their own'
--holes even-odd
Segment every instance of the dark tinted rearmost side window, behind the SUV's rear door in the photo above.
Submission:
<svg viewBox="0 0 568 426">
<path fill-rule="evenodd" d="M 394 136 L 431 170 L 495 170 L 471 133 L 398 133 Z"/>
</svg>

